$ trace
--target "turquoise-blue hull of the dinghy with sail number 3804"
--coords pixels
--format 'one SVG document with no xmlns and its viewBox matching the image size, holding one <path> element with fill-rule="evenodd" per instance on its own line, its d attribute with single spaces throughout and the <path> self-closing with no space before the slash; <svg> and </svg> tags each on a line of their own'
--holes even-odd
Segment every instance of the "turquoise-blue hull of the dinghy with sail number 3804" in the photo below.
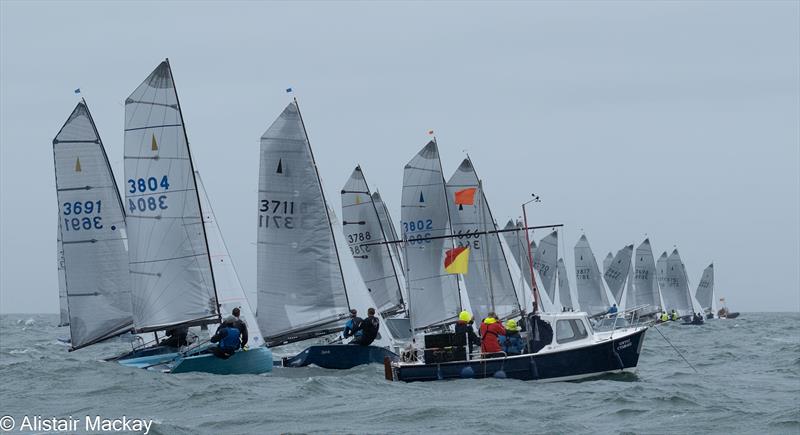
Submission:
<svg viewBox="0 0 800 435">
<path fill-rule="evenodd" d="M 272 371 L 272 351 L 256 347 L 248 351 L 239 350 L 228 359 L 210 353 L 180 357 L 175 360 L 170 373 L 204 372 L 217 375 L 257 375 Z"/>
</svg>

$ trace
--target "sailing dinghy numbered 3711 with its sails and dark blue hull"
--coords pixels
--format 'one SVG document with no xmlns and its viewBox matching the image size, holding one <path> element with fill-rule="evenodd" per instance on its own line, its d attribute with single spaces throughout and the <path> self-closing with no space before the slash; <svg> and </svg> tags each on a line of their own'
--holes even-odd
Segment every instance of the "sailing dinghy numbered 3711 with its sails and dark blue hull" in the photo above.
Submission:
<svg viewBox="0 0 800 435">
<path fill-rule="evenodd" d="M 350 298 L 366 289 L 352 276 L 359 273 L 352 254 L 343 254 L 342 228 L 325 200 L 296 100 L 261 137 L 258 186 L 258 322 L 265 340 L 275 348 L 339 333 Z M 383 308 L 394 305 L 394 290 L 386 288 Z M 396 355 L 375 345 L 322 344 L 284 358 L 283 366 L 348 369 L 384 357 Z"/>
</svg>

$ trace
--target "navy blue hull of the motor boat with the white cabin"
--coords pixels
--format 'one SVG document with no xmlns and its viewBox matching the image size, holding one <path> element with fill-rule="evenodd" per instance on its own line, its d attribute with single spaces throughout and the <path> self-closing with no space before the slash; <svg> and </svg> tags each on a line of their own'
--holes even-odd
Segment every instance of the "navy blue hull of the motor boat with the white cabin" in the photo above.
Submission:
<svg viewBox="0 0 800 435">
<path fill-rule="evenodd" d="M 395 365 L 391 376 L 405 382 L 465 377 L 559 381 L 618 373 L 638 364 L 645 332 L 646 328 L 643 328 L 613 340 L 550 353 L 441 364 Z M 467 367 L 471 370 L 465 370 Z"/>
</svg>

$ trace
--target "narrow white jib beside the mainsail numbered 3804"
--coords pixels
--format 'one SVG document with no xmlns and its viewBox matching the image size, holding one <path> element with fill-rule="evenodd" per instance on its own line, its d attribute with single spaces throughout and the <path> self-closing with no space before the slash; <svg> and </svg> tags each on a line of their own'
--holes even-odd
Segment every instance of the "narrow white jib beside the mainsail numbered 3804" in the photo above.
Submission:
<svg viewBox="0 0 800 435">
<path fill-rule="evenodd" d="M 200 173 L 195 172 L 197 180 L 197 193 L 200 195 L 200 206 L 203 210 L 203 224 L 206 228 L 208 237 L 208 253 L 211 256 L 211 267 L 214 269 L 214 281 L 217 284 L 217 297 L 223 317 L 230 315 L 234 308 L 239 309 L 239 318 L 247 324 L 248 343 L 250 347 L 261 346 L 264 344 L 264 337 L 261 336 L 256 316 L 247 296 L 244 293 L 242 282 L 236 273 L 228 247 L 225 246 L 225 239 L 222 238 L 222 231 L 211 208 L 211 200 L 200 178 Z"/>
</svg>

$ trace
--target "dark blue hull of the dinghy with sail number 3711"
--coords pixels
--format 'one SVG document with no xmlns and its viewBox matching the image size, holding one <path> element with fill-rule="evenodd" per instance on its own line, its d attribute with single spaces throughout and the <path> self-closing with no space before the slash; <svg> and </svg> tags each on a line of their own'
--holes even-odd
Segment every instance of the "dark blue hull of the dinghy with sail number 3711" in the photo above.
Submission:
<svg viewBox="0 0 800 435">
<path fill-rule="evenodd" d="M 394 352 L 377 346 L 329 344 L 311 346 L 299 354 L 283 359 L 284 367 L 305 367 L 314 364 L 326 369 L 346 370 L 363 364 L 383 364 L 384 358 L 397 360 Z"/>
</svg>

